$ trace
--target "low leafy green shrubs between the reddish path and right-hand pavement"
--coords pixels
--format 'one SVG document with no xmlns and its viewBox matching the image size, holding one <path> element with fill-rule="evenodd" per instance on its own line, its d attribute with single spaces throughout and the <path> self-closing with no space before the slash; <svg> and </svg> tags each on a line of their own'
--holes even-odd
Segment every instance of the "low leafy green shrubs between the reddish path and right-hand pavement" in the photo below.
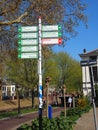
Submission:
<svg viewBox="0 0 98 130">
<path fill-rule="evenodd" d="M 77 119 L 85 112 L 90 110 L 90 105 L 85 106 L 84 108 L 75 107 L 67 110 L 67 116 L 64 116 L 62 111 L 60 117 L 55 117 L 52 119 L 43 117 L 42 118 L 42 130 L 73 130 L 73 126 L 76 123 Z M 22 125 L 17 130 L 24 128 L 25 130 L 39 130 L 39 119 L 34 119 L 32 125 Z"/>
</svg>

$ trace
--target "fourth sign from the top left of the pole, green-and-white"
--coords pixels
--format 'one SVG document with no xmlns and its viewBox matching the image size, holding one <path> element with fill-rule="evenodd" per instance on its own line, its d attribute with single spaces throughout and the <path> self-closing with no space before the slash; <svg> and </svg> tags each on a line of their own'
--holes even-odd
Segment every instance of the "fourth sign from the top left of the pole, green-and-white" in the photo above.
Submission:
<svg viewBox="0 0 98 130">
<path fill-rule="evenodd" d="M 18 48 L 18 51 L 20 51 L 20 52 L 34 52 L 34 51 L 38 51 L 38 46 L 20 46 Z"/>
</svg>

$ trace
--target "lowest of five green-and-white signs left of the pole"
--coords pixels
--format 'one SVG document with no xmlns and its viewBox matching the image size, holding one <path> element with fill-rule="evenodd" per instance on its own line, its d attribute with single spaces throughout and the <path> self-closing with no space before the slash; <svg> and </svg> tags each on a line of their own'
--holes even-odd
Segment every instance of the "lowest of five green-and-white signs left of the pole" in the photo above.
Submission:
<svg viewBox="0 0 98 130">
<path fill-rule="evenodd" d="M 21 53 L 21 54 L 18 54 L 18 58 L 19 59 L 37 59 L 38 58 L 38 53 Z"/>
</svg>

